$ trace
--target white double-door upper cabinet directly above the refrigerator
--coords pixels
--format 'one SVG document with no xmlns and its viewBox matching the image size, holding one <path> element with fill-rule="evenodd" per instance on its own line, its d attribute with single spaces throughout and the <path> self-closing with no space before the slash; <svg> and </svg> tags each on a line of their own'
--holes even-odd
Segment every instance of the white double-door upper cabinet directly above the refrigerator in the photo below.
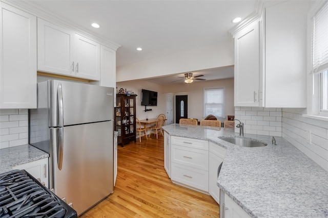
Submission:
<svg viewBox="0 0 328 218">
<path fill-rule="evenodd" d="M 100 80 L 100 44 L 37 19 L 37 69 L 54 74 Z"/>
</svg>

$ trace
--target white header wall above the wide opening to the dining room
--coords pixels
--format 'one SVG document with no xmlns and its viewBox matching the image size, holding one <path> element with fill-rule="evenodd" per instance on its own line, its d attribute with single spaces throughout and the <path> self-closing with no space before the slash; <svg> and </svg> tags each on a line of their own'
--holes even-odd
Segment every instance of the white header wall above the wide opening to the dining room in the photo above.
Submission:
<svg viewBox="0 0 328 218">
<path fill-rule="evenodd" d="M 116 82 L 181 74 L 234 65 L 233 43 L 227 41 L 116 68 Z"/>
</svg>

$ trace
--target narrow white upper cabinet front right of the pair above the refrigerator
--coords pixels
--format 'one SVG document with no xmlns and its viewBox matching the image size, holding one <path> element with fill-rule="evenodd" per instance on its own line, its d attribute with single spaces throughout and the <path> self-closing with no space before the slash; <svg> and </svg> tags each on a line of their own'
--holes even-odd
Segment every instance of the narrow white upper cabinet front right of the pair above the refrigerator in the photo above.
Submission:
<svg viewBox="0 0 328 218">
<path fill-rule="evenodd" d="M 116 87 L 116 51 L 100 45 L 100 85 Z"/>
</svg>

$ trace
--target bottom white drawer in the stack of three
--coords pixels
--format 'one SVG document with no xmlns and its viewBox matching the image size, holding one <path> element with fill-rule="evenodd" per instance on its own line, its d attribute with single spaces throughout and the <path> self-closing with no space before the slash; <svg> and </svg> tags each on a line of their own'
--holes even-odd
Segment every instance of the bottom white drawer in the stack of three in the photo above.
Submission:
<svg viewBox="0 0 328 218">
<path fill-rule="evenodd" d="M 202 171 L 201 169 L 172 163 L 171 179 L 203 191 L 209 191 L 208 171 Z"/>
</svg>

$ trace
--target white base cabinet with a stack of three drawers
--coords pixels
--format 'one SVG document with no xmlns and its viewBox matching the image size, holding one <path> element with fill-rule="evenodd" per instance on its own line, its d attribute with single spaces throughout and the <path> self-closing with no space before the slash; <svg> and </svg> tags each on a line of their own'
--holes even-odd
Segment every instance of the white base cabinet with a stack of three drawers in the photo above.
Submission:
<svg viewBox="0 0 328 218">
<path fill-rule="evenodd" d="M 189 188 L 209 191 L 209 142 L 171 136 L 171 180 Z"/>
</svg>

